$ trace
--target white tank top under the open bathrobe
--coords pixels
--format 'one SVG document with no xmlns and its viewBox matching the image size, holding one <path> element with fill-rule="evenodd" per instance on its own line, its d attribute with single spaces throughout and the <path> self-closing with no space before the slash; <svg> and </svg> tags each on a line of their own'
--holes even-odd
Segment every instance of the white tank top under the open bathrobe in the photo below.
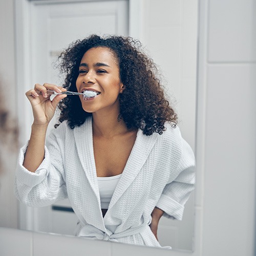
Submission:
<svg viewBox="0 0 256 256">
<path fill-rule="evenodd" d="M 116 185 L 122 174 L 111 177 L 97 177 L 101 209 L 108 209 Z"/>
</svg>

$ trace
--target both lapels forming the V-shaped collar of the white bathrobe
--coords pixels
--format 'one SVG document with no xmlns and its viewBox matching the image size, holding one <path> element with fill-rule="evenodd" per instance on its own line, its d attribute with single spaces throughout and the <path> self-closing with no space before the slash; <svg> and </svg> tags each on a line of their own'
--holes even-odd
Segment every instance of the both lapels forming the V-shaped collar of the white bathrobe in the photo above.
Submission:
<svg viewBox="0 0 256 256">
<path fill-rule="evenodd" d="M 96 165 L 93 152 L 92 117 L 87 118 L 83 125 L 75 127 L 74 137 L 78 157 L 81 161 L 83 170 L 89 180 L 91 189 L 94 191 L 94 194 L 97 198 L 99 211 L 101 212 Z M 131 185 L 133 180 L 140 172 L 143 164 L 145 163 L 156 142 L 156 139 L 156 133 L 153 133 L 151 136 L 146 136 L 143 135 L 141 130 L 138 130 L 137 138 L 133 146 L 132 152 L 126 162 L 122 176 L 116 186 L 106 215 L 110 214 L 113 205 L 118 202 L 118 199 L 123 195 L 125 190 Z"/>
</svg>

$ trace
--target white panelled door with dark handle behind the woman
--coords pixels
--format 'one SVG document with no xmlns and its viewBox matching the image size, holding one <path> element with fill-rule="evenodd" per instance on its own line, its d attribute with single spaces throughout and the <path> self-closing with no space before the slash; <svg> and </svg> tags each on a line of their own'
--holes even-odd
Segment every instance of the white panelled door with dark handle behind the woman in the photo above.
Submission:
<svg viewBox="0 0 256 256">
<path fill-rule="evenodd" d="M 53 68 L 56 56 L 72 41 L 90 34 L 129 32 L 129 1 L 90 1 L 31 5 L 31 80 L 34 83 L 54 83 L 63 80 Z M 56 120 L 52 120 L 50 129 Z M 32 120 L 31 120 L 32 123 Z M 69 201 L 34 210 L 34 230 L 73 234 L 77 217 Z"/>
</svg>

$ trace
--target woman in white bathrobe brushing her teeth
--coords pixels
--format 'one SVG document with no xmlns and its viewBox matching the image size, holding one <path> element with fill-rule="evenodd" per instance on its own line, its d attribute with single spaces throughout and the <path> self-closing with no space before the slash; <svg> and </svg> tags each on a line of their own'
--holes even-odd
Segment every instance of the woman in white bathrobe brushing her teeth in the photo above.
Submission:
<svg viewBox="0 0 256 256">
<path fill-rule="evenodd" d="M 181 220 L 195 161 L 140 48 L 130 37 L 77 40 L 60 56 L 63 88 L 36 84 L 26 93 L 34 122 L 19 156 L 16 195 L 36 207 L 68 197 L 77 236 L 160 246 L 158 222 L 163 215 Z M 51 101 L 49 89 L 97 96 Z M 60 124 L 45 146 L 58 103 Z"/>
</svg>

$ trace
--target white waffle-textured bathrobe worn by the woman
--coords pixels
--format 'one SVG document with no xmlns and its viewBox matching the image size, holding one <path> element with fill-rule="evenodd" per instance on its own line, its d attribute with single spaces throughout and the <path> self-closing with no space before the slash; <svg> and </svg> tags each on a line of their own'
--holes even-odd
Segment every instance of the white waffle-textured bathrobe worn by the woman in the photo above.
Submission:
<svg viewBox="0 0 256 256">
<path fill-rule="evenodd" d="M 195 159 L 190 146 L 166 123 L 162 135 L 139 130 L 131 155 L 104 218 L 93 153 L 92 118 L 70 129 L 62 122 L 49 136 L 45 159 L 35 173 L 22 164 L 16 170 L 16 197 L 40 207 L 69 198 L 79 219 L 77 236 L 160 246 L 148 226 L 155 206 L 167 218 L 182 219 L 184 204 L 195 184 Z"/>
</svg>

